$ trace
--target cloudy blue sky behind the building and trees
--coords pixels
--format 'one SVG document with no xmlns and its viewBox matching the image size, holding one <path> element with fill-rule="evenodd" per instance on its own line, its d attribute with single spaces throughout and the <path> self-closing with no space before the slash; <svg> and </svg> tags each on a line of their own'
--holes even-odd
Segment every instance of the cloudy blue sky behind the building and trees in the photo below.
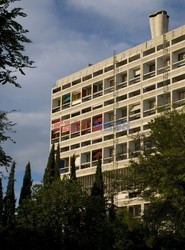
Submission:
<svg viewBox="0 0 185 250">
<path fill-rule="evenodd" d="M 0 109 L 20 110 L 16 144 L 5 145 L 17 162 L 16 196 L 24 168 L 31 162 L 33 180 L 42 179 L 49 153 L 50 93 L 56 80 L 150 39 L 148 16 L 165 9 L 170 30 L 185 24 L 182 0 L 21 0 L 28 14 L 20 22 L 32 44 L 26 53 L 37 68 L 19 76 L 22 88 L 0 88 Z"/>
</svg>

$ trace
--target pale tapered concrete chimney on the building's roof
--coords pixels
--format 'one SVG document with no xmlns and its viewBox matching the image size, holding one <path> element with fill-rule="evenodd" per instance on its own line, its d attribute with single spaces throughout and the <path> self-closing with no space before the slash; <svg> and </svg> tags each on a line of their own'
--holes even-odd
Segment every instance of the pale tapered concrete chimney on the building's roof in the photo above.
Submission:
<svg viewBox="0 0 185 250">
<path fill-rule="evenodd" d="M 152 38 L 168 32 L 169 16 L 165 10 L 160 10 L 149 16 Z"/>
</svg>

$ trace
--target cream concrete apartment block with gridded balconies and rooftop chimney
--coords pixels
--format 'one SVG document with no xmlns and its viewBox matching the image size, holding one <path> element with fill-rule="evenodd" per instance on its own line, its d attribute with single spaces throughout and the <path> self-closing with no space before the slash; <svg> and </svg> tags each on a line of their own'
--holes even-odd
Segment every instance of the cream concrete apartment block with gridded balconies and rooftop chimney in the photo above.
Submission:
<svg viewBox="0 0 185 250">
<path fill-rule="evenodd" d="M 150 16 L 152 39 L 61 78 L 52 89 L 51 144 L 61 149 L 61 176 L 76 156 L 77 177 L 94 181 L 98 157 L 103 172 L 124 170 L 137 156 L 138 132 L 171 107 L 185 104 L 185 25 L 168 32 L 166 11 Z M 118 205 L 134 215 L 145 202 L 125 190 Z"/>
</svg>

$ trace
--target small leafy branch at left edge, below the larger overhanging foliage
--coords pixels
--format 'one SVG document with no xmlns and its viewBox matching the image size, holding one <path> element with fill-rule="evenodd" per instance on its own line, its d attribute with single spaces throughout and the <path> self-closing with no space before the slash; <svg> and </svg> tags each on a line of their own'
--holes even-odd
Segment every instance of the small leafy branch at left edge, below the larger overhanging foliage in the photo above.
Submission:
<svg viewBox="0 0 185 250">
<path fill-rule="evenodd" d="M 6 141 L 14 142 L 11 137 L 7 134 L 15 132 L 12 128 L 15 125 L 12 121 L 8 119 L 8 113 L 5 111 L 0 111 L 0 167 L 9 166 L 12 158 L 8 156 L 3 150 L 2 144 Z"/>
</svg>

